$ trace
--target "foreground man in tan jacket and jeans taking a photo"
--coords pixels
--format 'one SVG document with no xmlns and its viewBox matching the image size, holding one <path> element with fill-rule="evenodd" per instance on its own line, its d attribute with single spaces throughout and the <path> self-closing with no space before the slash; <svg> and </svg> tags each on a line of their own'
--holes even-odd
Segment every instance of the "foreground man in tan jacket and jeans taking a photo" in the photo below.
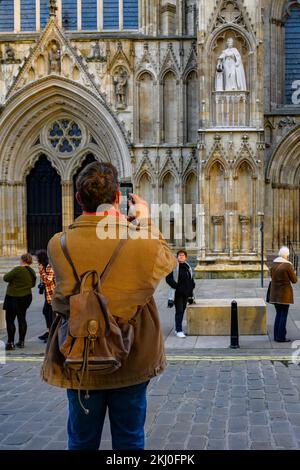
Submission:
<svg viewBox="0 0 300 470">
<path fill-rule="evenodd" d="M 57 316 L 49 334 L 43 380 L 67 389 L 69 449 L 98 449 L 108 410 L 113 450 L 142 450 L 147 385 L 166 365 L 153 294 L 160 280 L 175 267 L 176 259 L 161 234 L 153 229 L 145 201 L 131 195 L 136 206 L 135 224 L 122 216 L 118 173 L 113 165 L 91 163 L 79 174 L 76 188 L 82 215 L 64 235 L 54 235 L 48 245 L 56 279 L 52 307 Z M 104 228 L 107 237 L 103 236 Z M 126 234 L 128 238 L 123 243 Z M 120 245 L 122 250 L 118 250 Z M 85 319 L 93 315 L 93 309 L 77 309 L 77 323 L 71 324 L 72 302 L 76 296 L 84 295 L 80 280 L 86 279 L 86 273 L 107 273 L 108 266 L 109 273 L 101 282 L 102 308 L 105 310 L 106 304 L 109 307 L 115 328 L 133 326 L 133 343 L 127 358 L 113 373 L 89 368 L 88 355 L 77 371 L 67 364 L 64 351 L 68 344 L 64 339 L 71 338 L 68 347 L 72 355 L 76 345 L 80 350 L 80 345 L 86 344 L 83 339 L 90 346 L 85 351 L 96 352 L 99 338 L 95 336 L 94 320 L 88 325 L 89 336 L 83 338 Z M 92 285 L 89 295 L 94 295 L 97 285 Z M 72 329 L 79 332 L 73 333 L 73 339 Z"/>
</svg>

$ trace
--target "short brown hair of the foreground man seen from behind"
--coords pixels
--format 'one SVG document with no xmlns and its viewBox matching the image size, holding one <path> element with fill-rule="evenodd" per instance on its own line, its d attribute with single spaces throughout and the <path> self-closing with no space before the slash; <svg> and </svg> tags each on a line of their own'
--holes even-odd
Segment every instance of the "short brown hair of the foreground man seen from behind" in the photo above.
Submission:
<svg viewBox="0 0 300 470">
<path fill-rule="evenodd" d="M 90 163 L 79 173 L 76 189 L 87 212 L 96 212 L 101 204 L 113 204 L 119 189 L 117 169 L 111 163 Z"/>
</svg>

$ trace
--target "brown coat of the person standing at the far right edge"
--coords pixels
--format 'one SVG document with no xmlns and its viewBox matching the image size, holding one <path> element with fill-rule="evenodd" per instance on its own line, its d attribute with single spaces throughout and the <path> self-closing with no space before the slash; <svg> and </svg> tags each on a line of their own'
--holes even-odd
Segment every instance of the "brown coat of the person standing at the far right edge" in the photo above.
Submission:
<svg viewBox="0 0 300 470">
<path fill-rule="evenodd" d="M 291 283 L 298 281 L 292 263 L 284 258 L 276 258 L 271 267 L 271 304 L 293 304 L 294 295 Z"/>
</svg>

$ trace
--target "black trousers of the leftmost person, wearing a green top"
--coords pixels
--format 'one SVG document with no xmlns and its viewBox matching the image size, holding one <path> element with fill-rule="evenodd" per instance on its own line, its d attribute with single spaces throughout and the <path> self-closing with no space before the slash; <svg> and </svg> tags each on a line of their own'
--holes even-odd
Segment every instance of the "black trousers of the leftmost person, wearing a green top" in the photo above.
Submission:
<svg viewBox="0 0 300 470">
<path fill-rule="evenodd" d="M 15 340 L 15 319 L 18 319 L 19 341 L 24 341 L 27 332 L 26 311 L 32 302 L 32 295 L 24 297 L 6 296 L 4 301 L 8 343 Z"/>
</svg>

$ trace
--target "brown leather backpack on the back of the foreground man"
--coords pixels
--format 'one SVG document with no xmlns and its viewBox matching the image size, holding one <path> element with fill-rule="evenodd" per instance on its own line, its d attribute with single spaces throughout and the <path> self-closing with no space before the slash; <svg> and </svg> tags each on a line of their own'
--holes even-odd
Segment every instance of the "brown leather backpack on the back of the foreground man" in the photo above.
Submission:
<svg viewBox="0 0 300 470">
<path fill-rule="evenodd" d="M 65 358 L 65 368 L 78 371 L 80 383 L 89 371 L 111 374 L 119 369 L 133 343 L 133 325 L 130 321 L 118 324 L 109 311 L 108 301 L 101 289 L 126 241 L 119 242 L 101 275 L 91 270 L 80 278 L 67 249 L 66 234 L 61 237 L 64 255 L 72 267 L 80 291 L 70 296 L 70 316 L 59 327 L 58 344 Z M 87 287 L 90 277 L 93 277 L 93 282 Z"/>
</svg>

